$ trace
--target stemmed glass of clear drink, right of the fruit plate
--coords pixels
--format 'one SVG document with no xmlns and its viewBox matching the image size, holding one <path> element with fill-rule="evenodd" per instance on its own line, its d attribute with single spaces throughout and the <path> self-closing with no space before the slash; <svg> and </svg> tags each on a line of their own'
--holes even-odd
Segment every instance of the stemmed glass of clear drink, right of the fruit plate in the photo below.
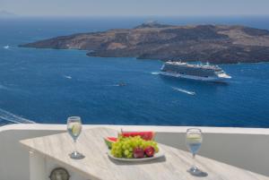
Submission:
<svg viewBox="0 0 269 180">
<path fill-rule="evenodd" d="M 194 176 L 199 176 L 202 173 L 202 171 L 200 171 L 198 167 L 195 166 L 195 155 L 200 149 L 202 141 L 203 141 L 203 137 L 202 137 L 201 129 L 198 129 L 198 128 L 187 129 L 186 143 L 187 143 L 188 149 L 193 155 L 193 161 L 194 161 L 193 166 L 190 167 L 188 172 Z"/>
</svg>

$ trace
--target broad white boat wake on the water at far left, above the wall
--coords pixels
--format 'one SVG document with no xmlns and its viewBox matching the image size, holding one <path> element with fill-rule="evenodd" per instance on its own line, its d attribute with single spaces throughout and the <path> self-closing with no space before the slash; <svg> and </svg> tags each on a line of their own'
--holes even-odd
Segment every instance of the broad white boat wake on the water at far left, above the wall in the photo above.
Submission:
<svg viewBox="0 0 269 180">
<path fill-rule="evenodd" d="M 0 108 L 0 122 L 1 121 L 6 121 L 8 123 L 13 123 L 13 124 L 34 124 L 35 123 L 34 121 L 25 119 L 22 116 L 13 115 L 12 113 Z"/>
</svg>

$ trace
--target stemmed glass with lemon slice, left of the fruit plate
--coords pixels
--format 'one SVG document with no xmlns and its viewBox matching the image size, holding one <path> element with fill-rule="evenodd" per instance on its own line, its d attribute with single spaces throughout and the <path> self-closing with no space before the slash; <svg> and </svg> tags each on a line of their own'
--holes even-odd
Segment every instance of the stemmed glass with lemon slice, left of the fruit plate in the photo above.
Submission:
<svg viewBox="0 0 269 180">
<path fill-rule="evenodd" d="M 83 159 L 84 155 L 76 150 L 76 141 L 82 133 L 82 120 L 79 116 L 71 116 L 67 118 L 67 132 L 74 140 L 74 151 L 69 154 L 71 159 Z"/>
</svg>

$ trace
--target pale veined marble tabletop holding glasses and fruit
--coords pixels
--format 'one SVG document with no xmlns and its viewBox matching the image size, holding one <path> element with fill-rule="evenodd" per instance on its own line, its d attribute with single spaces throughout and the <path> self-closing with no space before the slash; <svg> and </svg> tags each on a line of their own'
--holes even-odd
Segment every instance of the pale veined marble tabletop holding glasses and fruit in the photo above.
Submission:
<svg viewBox="0 0 269 180">
<path fill-rule="evenodd" d="M 207 176 L 191 176 L 187 172 L 193 162 L 191 154 L 164 144 L 159 146 L 165 153 L 165 159 L 143 163 L 111 160 L 108 159 L 108 148 L 103 140 L 108 136 L 117 136 L 117 131 L 102 127 L 82 131 L 77 149 L 85 155 L 85 159 L 79 160 L 68 156 L 74 150 L 74 142 L 68 133 L 23 140 L 21 143 L 28 150 L 52 159 L 91 180 L 269 180 L 269 177 L 201 156 L 196 157 L 196 165 Z M 36 176 L 44 175 L 41 173 Z"/>
</svg>

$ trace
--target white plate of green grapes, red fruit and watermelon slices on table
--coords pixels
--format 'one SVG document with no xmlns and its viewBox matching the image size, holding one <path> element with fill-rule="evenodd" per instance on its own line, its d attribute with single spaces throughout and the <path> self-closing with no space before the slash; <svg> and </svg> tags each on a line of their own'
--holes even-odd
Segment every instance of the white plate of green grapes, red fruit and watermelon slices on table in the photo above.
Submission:
<svg viewBox="0 0 269 180">
<path fill-rule="evenodd" d="M 153 132 L 122 132 L 118 137 L 107 137 L 108 157 L 120 161 L 145 161 L 164 156 L 154 141 Z"/>
</svg>

